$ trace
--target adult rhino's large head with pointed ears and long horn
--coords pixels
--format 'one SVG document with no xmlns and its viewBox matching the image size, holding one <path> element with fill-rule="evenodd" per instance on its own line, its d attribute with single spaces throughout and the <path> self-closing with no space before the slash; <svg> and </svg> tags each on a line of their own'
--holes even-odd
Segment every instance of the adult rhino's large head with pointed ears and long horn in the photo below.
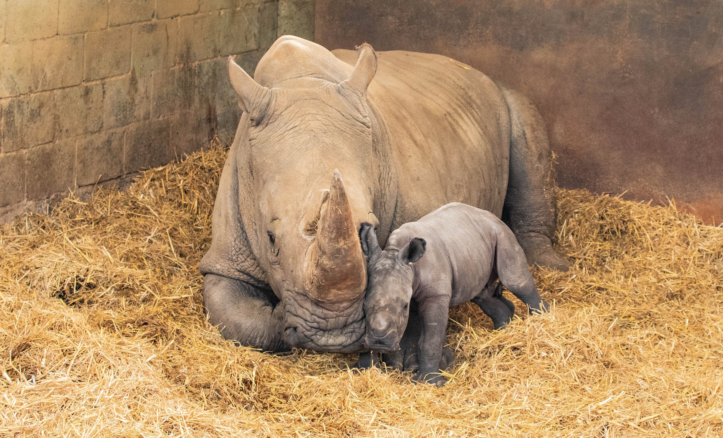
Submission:
<svg viewBox="0 0 723 438">
<path fill-rule="evenodd" d="M 373 211 L 381 196 L 366 102 L 377 59 L 364 45 L 351 74 L 336 59 L 325 66 L 331 72 L 294 74 L 309 68 L 304 59 L 332 56 L 304 43 L 278 40 L 257 67 L 258 82 L 228 59 L 246 113 L 237 132 L 247 135 L 239 179 L 250 180 L 241 215 L 254 257 L 285 306 L 286 342 L 358 351 L 367 284 L 358 230 L 362 222 L 378 223 Z M 317 47 L 325 53 L 304 58 Z M 340 75 L 346 79 L 329 80 Z"/>
</svg>

